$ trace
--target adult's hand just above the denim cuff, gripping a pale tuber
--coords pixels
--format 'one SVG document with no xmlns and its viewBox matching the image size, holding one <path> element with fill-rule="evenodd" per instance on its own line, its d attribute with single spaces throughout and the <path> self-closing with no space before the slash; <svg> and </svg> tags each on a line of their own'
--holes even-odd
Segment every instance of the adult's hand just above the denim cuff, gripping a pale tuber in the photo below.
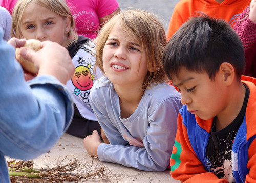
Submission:
<svg viewBox="0 0 256 183">
<path fill-rule="evenodd" d="M 52 75 L 61 83 L 65 84 L 71 79 L 75 72 L 68 50 L 51 41 L 41 42 L 41 49 L 37 52 L 22 47 L 20 55 L 31 62 L 34 62 L 37 76 Z"/>
</svg>

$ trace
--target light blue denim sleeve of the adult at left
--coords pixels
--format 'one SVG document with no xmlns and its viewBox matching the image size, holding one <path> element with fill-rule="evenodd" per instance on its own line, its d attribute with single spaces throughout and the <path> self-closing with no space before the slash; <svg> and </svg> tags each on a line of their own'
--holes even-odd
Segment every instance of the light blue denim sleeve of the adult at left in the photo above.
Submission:
<svg viewBox="0 0 256 183">
<path fill-rule="evenodd" d="M 15 49 L 0 30 L 0 154 L 32 159 L 56 143 L 73 117 L 66 86 L 45 75 L 26 83 Z"/>
</svg>

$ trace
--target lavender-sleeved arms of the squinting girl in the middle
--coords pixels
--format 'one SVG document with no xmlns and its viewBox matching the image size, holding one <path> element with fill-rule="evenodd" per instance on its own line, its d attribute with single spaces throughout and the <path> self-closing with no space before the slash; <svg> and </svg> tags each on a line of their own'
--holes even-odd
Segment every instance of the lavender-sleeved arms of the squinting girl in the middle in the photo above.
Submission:
<svg viewBox="0 0 256 183">
<path fill-rule="evenodd" d="M 95 114 L 111 143 L 98 146 L 98 158 L 101 161 L 145 171 L 164 171 L 169 165 L 177 130 L 177 115 L 180 107 L 177 103 L 179 103 L 178 98 L 168 99 L 156 106 L 154 112 L 148 116 L 149 125 L 142 139 L 144 147 L 129 145 L 120 134 L 120 129 L 99 113 L 97 108 Z"/>
</svg>

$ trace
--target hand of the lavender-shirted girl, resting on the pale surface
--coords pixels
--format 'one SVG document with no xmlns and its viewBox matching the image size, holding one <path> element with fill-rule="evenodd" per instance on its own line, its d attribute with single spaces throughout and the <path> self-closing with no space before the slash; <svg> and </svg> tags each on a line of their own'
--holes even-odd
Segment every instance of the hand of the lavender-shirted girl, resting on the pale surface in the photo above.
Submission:
<svg viewBox="0 0 256 183">
<path fill-rule="evenodd" d="M 93 131 L 93 134 L 83 139 L 83 145 L 86 148 L 89 155 L 98 158 L 97 150 L 101 140 L 97 130 Z"/>
</svg>

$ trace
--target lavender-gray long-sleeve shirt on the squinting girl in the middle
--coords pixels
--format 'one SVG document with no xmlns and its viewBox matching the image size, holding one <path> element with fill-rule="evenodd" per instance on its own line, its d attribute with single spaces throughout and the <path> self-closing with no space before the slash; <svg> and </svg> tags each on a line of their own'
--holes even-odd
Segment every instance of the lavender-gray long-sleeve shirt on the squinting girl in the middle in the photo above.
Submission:
<svg viewBox="0 0 256 183">
<path fill-rule="evenodd" d="M 121 118 L 119 97 L 107 77 L 91 89 L 94 113 L 110 144 L 98 147 L 101 161 L 145 171 L 164 171 L 177 130 L 180 93 L 167 83 L 146 89 L 135 112 Z"/>
</svg>

